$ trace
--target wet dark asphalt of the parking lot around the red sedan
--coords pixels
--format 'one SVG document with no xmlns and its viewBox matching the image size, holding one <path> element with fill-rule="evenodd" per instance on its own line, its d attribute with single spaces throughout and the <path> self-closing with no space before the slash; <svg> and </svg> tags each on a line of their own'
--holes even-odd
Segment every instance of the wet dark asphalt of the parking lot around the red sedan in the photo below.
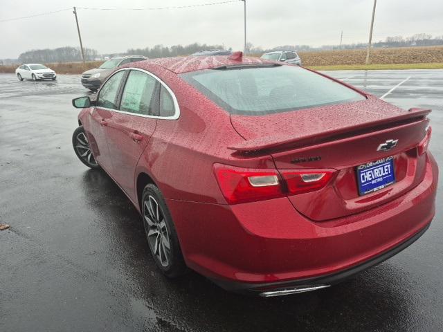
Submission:
<svg viewBox="0 0 443 332">
<path fill-rule="evenodd" d="M 329 73 L 408 109 L 429 107 L 443 165 L 443 71 Z M 431 228 L 354 279 L 262 299 L 196 273 L 165 279 L 141 217 L 71 147 L 79 75 L 0 75 L 0 331 L 443 331 L 443 193 Z M 227 244 L 228 245 L 228 244 Z"/>
</svg>

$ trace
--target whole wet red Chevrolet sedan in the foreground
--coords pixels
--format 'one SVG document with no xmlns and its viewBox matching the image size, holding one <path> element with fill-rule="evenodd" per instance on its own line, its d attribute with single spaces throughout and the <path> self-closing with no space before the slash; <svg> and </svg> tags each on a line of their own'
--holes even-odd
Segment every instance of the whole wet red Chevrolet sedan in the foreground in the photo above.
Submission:
<svg viewBox="0 0 443 332">
<path fill-rule="evenodd" d="M 264 297 L 325 288 L 418 239 L 435 213 L 430 111 L 305 68 L 176 57 L 115 71 L 75 153 L 143 216 L 156 264 Z"/>
</svg>

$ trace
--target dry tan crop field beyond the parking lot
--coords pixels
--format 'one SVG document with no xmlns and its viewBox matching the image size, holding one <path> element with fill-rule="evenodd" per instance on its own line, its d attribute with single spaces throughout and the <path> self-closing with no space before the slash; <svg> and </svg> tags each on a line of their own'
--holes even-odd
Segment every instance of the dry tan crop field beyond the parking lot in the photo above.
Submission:
<svg viewBox="0 0 443 332">
<path fill-rule="evenodd" d="M 440 69 L 443 68 L 443 46 L 374 48 L 371 63 L 365 65 L 366 50 L 323 50 L 299 52 L 303 66 L 316 70 L 345 69 Z M 260 54 L 261 55 L 261 54 Z M 259 54 L 252 56 L 260 57 Z M 46 64 L 59 74 L 81 74 L 102 62 Z M 0 66 L 0 73 L 14 73 L 16 66 Z"/>
</svg>

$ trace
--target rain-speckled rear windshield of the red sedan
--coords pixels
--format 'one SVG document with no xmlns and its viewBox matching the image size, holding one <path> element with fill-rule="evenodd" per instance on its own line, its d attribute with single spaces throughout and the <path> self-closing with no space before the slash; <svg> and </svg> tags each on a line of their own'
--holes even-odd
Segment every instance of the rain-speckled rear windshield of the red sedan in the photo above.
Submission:
<svg viewBox="0 0 443 332">
<path fill-rule="evenodd" d="M 296 66 L 210 69 L 181 77 L 233 114 L 257 116 L 365 100 L 342 84 Z"/>
</svg>

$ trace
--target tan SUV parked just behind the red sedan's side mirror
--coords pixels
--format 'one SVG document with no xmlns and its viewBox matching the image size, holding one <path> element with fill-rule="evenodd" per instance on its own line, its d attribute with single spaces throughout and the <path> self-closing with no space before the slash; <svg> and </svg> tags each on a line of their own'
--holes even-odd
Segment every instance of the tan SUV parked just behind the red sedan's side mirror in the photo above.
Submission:
<svg viewBox="0 0 443 332">
<path fill-rule="evenodd" d="M 89 69 L 89 71 L 82 73 L 82 85 L 91 91 L 98 90 L 100 85 L 105 82 L 109 74 L 112 73 L 115 68 L 123 66 L 124 64 L 130 64 L 131 62 L 143 60 L 147 60 L 147 57 L 143 57 L 143 55 L 113 57 L 104 62 L 100 67 Z"/>
</svg>

